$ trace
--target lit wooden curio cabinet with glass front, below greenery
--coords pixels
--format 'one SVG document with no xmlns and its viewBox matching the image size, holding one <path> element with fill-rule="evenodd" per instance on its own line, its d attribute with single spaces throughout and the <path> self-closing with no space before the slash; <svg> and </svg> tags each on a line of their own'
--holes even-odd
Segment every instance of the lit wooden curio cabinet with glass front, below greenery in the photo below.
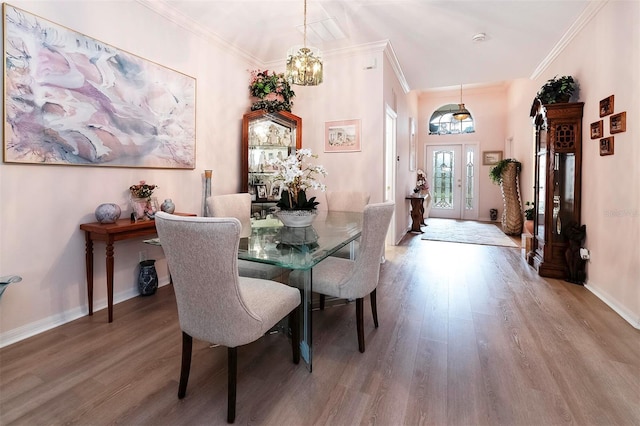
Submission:
<svg viewBox="0 0 640 426">
<path fill-rule="evenodd" d="M 242 191 L 254 204 L 275 203 L 276 171 L 269 160 L 284 159 L 302 147 L 302 119 L 287 111 L 251 111 L 242 117 Z"/>
</svg>

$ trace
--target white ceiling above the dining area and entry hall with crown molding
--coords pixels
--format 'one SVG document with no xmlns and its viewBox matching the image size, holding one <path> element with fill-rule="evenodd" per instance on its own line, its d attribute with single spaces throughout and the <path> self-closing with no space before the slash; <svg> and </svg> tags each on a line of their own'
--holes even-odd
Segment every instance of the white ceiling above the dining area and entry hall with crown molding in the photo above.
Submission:
<svg viewBox="0 0 640 426">
<path fill-rule="evenodd" d="M 264 65 L 302 44 L 303 0 L 138 0 Z M 307 24 L 346 38 L 307 44 L 325 56 L 388 41 L 409 90 L 496 84 L 535 75 L 607 0 L 307 0 Z M 484 42 L 474 42 L 476 33 Z"/>
</svg>

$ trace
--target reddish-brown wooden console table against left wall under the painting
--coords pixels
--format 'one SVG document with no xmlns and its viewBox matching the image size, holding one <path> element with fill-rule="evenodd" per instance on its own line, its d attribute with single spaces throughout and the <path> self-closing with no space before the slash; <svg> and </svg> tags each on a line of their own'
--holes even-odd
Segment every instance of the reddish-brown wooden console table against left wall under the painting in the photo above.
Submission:
<svg viewBox="0 0 640 426">
<path fill-rule="evenodd" d="M 195 216 L 190 213 L 174 213 L 182 216 Z M 104 241 L 106 247 L 107 265 L 107 304 L 109 322 L 113 322 L 113 243 L 156 234 L 156 222 L 143 220 L 131 222 L 131 219 L 118 219 L 115 223 L 91 222 L 83 223 L 80 229 L 84 231 L 86 244 L 85 266 L 87 270 L 87 297 L 89 298 L 89 315 L 93 315 L 93 242 Z"/>
</svg>

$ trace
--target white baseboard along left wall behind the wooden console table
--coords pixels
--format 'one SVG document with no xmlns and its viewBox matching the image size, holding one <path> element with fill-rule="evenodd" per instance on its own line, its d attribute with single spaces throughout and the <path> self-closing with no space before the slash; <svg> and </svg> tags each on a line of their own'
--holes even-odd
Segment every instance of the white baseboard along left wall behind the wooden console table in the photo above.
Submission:
<svg viewBox="0 0 640 426">
<path fill-rule="evenodd" d="M 160 284 L 159 287 L 165 286 L 167 284 L 169 284 L 168 281 L 164 284 Z M 121 291 L 113 295 L 113 304 L 116 305 L 120 302 L 124 302 L 125 300 L 138 297 L 139 295 L 140 292 L 138 291 L 137 287 Z M 106 308 L 106 298 L 96 300 L 93 304 L 94 313 Z M 79 306 L 73 309 L 69 309 L 68 311 L 60 312 L 55 315 L 39 319 L 38 321 L 25 324 L 21 327 L 14 328 L 13 330 L 9 330 L 5 333 L 0 333 L 0 348 L 4 348 L 5 346 L 9 346 L 21 340 L 28 339 L 29 337 L 33 337 L 36 334 L 44 333 L 45 331 L 51 330 L 73 320 L 77 320 L 78 318 L 82 318 L 88 314 L 88 306 Z"/>
</svg>

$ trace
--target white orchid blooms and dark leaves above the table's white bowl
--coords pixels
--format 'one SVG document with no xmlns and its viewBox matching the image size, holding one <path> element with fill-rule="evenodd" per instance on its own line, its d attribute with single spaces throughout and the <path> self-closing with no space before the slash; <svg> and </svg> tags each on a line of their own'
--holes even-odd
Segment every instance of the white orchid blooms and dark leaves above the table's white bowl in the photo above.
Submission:
<svg viewBox="0 0 640 426">
<path fill-rule="evenodd" d="M 285 159 L 275 158 L 268 163 L 276 170 L 273 184 L 283 188 L 277 207 L 281 210 L 315 210 L 318 206 L 316 197 L 307 200 L 306 190 L 324 191 L 326 185 L 318 181 L 327 175 L 323 166 L 313 165 L 309 158 L 317 158 L 310 149 L 299 149 Z"/>
</svg>

